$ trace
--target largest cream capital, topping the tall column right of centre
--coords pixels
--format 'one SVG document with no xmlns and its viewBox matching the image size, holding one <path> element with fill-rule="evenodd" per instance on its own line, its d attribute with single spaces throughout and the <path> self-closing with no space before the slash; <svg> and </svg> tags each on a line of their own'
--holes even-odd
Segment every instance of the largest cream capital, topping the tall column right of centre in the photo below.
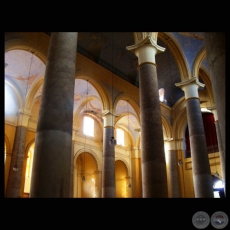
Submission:
<svg viewBox="0 0 230 230">
<path fill-rule="evenodd" d="M 164 47 L 157 45 L 152 34 L 148 34 L 145 38 L 135 39 L 135 45 L 126 46 L 126 49 L 135 53 L 138 57 L 138 64 L 153 63 L 155 64 L 155 55 L 165 51 Z"/>
</svg>

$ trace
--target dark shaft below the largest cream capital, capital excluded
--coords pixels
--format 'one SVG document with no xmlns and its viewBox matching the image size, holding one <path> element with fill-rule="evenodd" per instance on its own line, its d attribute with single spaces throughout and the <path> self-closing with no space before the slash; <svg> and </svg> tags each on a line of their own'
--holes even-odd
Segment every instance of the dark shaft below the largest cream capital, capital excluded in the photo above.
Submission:
<svg viewBox="0 0 230 230">
<path fill-rule="evenodd" d="M 167 197 L 167 175 L 156 66 L 139 68 L 143 197 Z"/>
</svg>

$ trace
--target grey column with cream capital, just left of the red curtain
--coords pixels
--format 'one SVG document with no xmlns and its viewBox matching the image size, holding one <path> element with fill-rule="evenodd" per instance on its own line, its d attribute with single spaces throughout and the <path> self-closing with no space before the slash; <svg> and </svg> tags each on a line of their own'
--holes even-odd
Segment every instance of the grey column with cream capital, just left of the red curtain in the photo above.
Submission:
<svg viewBox="0 0 230 230">
<path fill-rule="evenodd" d="M 198 87 L 204 87 L 197 78 L 176 83 L 185 93 L 189 140 L 196 198 L 213 198 L 213 184 L 206 146 L 204 125 L 200 110 Z"/>
</svg>

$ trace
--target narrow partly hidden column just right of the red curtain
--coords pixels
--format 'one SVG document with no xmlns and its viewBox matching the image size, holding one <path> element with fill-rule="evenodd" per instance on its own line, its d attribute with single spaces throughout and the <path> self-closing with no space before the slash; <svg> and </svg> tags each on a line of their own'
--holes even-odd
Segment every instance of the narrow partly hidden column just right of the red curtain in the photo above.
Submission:
<svg viewBox="0 0 230 230">
<path fill-rule="evenodd" d="M 220 126 L 219 126 L 216 106 L 211 106 L 211 107 L 208 107 L 207 109 L 211 110 L 214 114 L 215 126 L 216 126 L 216 135 L 217 135 L 217 141 L 218 141 L 218 149 L 219 149 L 219 154 L 220 154 L 220 166 L 221 166 L 221 173 L 222 173 L 222 182 L 224 185 L 224 193 L 225 193 L 225 197 L 226 197 L 226 179 L 225 179 L 226 178 L 226 168 L 225 168 L 226 158 L 224 155 L 222 141 L 221 141 Z"/>
</svg>

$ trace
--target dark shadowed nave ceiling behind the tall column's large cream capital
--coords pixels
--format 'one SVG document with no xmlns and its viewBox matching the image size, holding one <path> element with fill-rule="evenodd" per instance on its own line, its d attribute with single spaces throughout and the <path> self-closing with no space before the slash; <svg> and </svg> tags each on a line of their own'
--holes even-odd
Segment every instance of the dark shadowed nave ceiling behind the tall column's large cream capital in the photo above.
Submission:
<svg viewBox="0 0 230 230">
<path fill-rule="evenodd" d="M 45 33 L 51 35 L 50 32 Z M 202 39 L 200 32 L 181 32 L 181 34 Z M 78 32 L 77 52 L 139 87 L 137 56 L 126 49 L 127 46 L 134 44 L 132 32 Z M 156 55 L 158 88 L 164 88 L 166 99 L 164 103 L 172 107 L 184 96 L 184 92 L 175 86 L 181 78 L 167 44 L 159 37 L 157 44 L 166 48 L 164 52 Z"/>
</svg>

